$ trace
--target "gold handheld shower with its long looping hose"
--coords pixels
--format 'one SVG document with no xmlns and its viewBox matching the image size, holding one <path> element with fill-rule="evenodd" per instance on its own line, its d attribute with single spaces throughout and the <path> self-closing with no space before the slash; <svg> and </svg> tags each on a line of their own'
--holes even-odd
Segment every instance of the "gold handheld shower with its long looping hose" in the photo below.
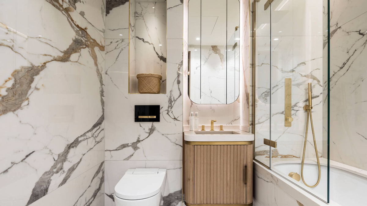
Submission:
<svg viewBox="0 0 367 206">
<path fill-rule="evenodd" d="M 312 114 L 311 114 L 311 109 L 312 109 L 312 100 L 311 100 L 311 83 L 308 83 L 308 103 L 309 105 L 305 105 L 304 110 L 307 111 L 307 125 L 306 125 L 306 135 L 305 135 L 305 144 L 303 146 L 303 155 L 302 155 L 302 166 L 301 166 L 301 177 L 302 177 L 302 182 L 307 186 L 307 187 L 316 187 L 319 182 L 320 182 L 320 177 L 321 177 L 321 169 L 320 169 L 320 161 L 319 161 L 319 154 L 317 153 L 317 147 L 316 147 L 316 139 L 315 139 L 315 132 L 313 130 L 313 122 L 312 122 Z M 317 158 L 317 166 L 319 168 L 319 178 L 317 179 L 317 183 L 315 185 L 308 185 L 306 184 L 305 180 L 303 179 L 303 165 L 305 162 L 305 152 L 306 152 L 306 143 L 307 143 L 307 133 L 308 133 L 308 120 L 309 117 L 311 119 L 311 129 L 312 129 L 312 136 L 313 136 L 313 144 L 315 144 L 315 152 L 316 152 L 316 158 Z"/>
</svg>

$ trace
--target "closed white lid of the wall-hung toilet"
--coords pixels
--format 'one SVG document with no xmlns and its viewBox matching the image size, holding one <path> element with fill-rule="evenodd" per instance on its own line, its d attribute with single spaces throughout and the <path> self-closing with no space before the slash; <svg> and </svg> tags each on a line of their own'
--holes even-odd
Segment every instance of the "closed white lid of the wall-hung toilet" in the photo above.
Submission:
<svg viewBox="0 0 367 206">
<path fill-rule="evenodd" d="M 129 169 L 115 186 L 115 195 L 121 199 L 150 198 L 161 191 L 166 169 Z"/>
</svg>

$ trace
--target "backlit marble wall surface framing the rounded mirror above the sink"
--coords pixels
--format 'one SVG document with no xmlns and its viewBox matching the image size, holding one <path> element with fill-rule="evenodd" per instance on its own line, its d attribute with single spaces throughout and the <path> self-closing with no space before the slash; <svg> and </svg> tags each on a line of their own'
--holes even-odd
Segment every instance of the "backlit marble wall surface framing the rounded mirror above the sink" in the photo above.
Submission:
<svg viewBox="0 0 367 206">
<path fill-rule="evenodd" d="M 187 59 L 188 47 L 188 0 L 184 0 L 183 19 L 183 58 Z M 249 120 L 249 42 L 250 38 L 250 14 L 249 1 L 240 1 L 240 37 L 243 39 L 240 49 L 240 91 L 239 98 L 232 104 L 196 104 L 188 96 L 188 62 L 183 61 L 183 124 L 189 125 L 190 112 L 199 113 L 199 125 L 210 125 L 211 119 L 216 119 L 217 125 L 241 125 L 243 130 L 248 131 Z M 243 26 L 242 26 L 243 25 Z"/>
</svg>

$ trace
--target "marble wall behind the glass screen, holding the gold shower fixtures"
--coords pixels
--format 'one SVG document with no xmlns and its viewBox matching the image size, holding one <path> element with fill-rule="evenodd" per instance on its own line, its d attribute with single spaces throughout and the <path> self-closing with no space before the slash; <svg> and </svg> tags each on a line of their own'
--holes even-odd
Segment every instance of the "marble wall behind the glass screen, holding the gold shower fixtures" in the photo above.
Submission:
<svg viewBox="0 0 367 206">
<path fill-rule="evenodd" d="M 271 138 L 277 141 L 273 158 L 302 157 L 307 119 L 303 106 L 308 103 L 310 82 L 317 151 L 322 157 L 323 2 L 277 1 L 266 11 L 264 3 L 257 3 L 255 151 L 269 158 L 269 146 L 262 140 Z M 292 79 L 291 127 L 284 126 L 285 78 Z M 310 131 L 307 143 L 306 157 L 316 157 Z"/>
</svg>

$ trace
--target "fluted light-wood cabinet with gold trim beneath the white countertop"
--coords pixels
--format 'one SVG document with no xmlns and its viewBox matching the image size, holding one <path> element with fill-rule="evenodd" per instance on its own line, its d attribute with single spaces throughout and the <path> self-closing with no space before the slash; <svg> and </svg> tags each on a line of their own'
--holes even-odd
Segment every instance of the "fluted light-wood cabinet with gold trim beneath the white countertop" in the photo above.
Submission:
<svg viewBox="0 0 367 206">
<path fill-rule="evenodd" d="M 185 202 L 252 203 L 252 144 L 185 144 Z"/>
</svg>

